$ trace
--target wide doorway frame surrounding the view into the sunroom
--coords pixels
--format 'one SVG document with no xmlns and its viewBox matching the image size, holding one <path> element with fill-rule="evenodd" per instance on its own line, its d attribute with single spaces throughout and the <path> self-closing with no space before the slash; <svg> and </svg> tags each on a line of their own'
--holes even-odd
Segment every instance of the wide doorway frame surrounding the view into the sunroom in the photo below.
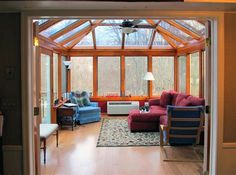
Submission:
<svg viewBox="0 0 236 175">
<path fill-rule="evenodd" d="M 122 15 L 121 15 L 122 14 Z M 33 24 L 32 19 L 47 17 L 63 18 L 209 18 L 212 21 L 211 57 L 211 140 L 210 174 L 221 172 L 223 144 L 223 97 L 224 97 L 224 12 L 155 11 L 155 10 L 38 10 L 21 13 L 21 77 L 22 77 L 22 133 L 23 174 L 35 174 L 33 135 Z M 220 44 L 218 41 L 221 41 Z"/>
</svg>

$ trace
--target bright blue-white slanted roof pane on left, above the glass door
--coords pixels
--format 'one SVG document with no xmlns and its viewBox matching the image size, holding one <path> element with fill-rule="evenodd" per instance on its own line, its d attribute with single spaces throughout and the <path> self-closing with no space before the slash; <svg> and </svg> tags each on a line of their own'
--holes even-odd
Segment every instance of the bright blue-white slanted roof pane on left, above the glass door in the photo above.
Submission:
<svg viewBox="0 0 236 175">
<path fill-rule="evenodd" d="M 51 35 L 53 35 L 54 33 L 60 31 L 61 29 L 69 26 L 70 24 L 74 23 L 75 21 L 78 21 L 76 19 L 66 19 L 66 20 L 62 20 L 54 25 L 52 25 L 51 27 L 49 27 L 48 29 L 40 32 L 41 35 L 45 36 L 45 37 L 50 37 Z"/>
</svg>

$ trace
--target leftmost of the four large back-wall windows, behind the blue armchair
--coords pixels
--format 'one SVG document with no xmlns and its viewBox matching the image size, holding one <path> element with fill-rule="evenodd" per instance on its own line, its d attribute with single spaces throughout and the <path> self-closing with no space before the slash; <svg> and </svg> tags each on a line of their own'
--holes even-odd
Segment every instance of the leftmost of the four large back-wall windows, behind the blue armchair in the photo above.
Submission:
<svg viewBox="0 0 236 175">
<path fill-rule="evenodd" d="M 71 57 L 71 90 L 93 92 L 93 57 Z"/>
</svg>

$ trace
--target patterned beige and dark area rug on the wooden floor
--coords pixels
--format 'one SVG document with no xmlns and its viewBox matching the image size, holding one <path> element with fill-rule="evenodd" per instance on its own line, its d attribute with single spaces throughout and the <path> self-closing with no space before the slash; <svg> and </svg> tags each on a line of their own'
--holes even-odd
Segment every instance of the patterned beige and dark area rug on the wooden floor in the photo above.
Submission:
<svg viewBox="0 0 236 175">
<path fill-rule="evenodd" d="M 97 147 L 157 146 L 159 132 L 130 132 L 126 118 L 105 118 L 102 121 Z"/>
</svg>

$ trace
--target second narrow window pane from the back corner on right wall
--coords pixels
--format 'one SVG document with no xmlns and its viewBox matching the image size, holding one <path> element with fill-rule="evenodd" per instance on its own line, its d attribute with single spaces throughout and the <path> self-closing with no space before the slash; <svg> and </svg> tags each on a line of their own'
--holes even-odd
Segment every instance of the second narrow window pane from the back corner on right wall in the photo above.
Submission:
<svg viewBox="0 0 236 175">
<path fill-rule="evenodd" d="M 190 94 L 199 96 L 199 52 L 190 54 Z"/>
</svg>

